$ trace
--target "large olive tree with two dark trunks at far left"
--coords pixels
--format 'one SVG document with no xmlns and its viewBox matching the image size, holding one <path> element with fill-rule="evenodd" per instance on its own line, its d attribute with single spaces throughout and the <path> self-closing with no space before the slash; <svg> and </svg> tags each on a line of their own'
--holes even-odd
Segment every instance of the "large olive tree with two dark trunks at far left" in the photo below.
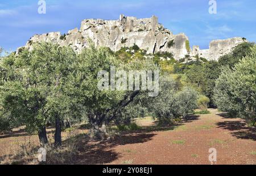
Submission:
<svg viewBox="0 0 256 176">
<path fill-rule="evenodd" d="M 42 145 L 48 143 L 46 123 L 55 123 L 55 144 L 61 145 L 61 119 L 77 112 L 73 97 L 73 70 L 77 61 L 72 48 L 57 44 L 33 45 L 1 62 L 1 116 L 16 119 L 29 132 L 38 132 Z"/>
</svg>

